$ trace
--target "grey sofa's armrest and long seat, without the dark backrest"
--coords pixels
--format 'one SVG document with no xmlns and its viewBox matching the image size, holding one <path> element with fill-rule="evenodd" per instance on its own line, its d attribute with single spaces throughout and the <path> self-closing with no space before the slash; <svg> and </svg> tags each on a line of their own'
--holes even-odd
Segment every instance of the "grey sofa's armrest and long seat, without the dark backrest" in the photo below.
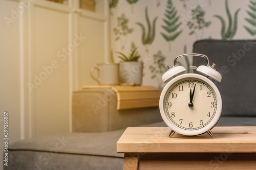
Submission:
<svg viewBox="0 0 256 170">
<path fill-rule="evenodd" d="M 158 107 L 117 110 L 109 88 L 81 89 L 72 96 L 72 133 L 34 137 L 9 145 L 5 169 L 122 169 L 116 142 L 126 127 L 165 126 Z M 112 94 L 100 109 L 99 99 Z"/>
</svg>

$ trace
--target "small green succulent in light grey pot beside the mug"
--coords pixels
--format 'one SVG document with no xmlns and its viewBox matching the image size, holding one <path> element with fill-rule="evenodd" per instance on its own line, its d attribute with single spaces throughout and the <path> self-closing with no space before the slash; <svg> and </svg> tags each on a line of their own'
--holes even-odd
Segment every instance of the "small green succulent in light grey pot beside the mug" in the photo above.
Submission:
<svg viewBox="0 0 256 170">
<path fill-rule="evenodd" d="M 119 66 L 119 80 L 121 83 L 141 85 L 143 64 L 139 61 L 140 55 L 137 49 L 134 43 L 132 43 L 129 56 L 116 52 L 119 54 L 118 58 L 121 59 Z"/>
</svg>

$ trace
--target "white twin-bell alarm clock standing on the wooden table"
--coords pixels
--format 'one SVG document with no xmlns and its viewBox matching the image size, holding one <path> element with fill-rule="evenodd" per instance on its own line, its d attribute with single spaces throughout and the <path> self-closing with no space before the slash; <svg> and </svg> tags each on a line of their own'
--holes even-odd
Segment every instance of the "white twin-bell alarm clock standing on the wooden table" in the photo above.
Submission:
<svg viewBox="0 0 256 170">
<path fill-rule="evenodd" d="M 185 56 L 197 56 L 206 59 L 206 65 L 190 66 L 200 74 L 185 74 L 183 66 L 177 66 L 177 60 Z M 174 59 L 174 66 L 167 66 L 162 81 L 167 83 L 163 88 L 159 109 L 165 124 L 172 129 L 169 137 L 175 132 L 194 136 L 208 133 L 218 123 L 222 112 L 221 94 L 210 80 L 221 82 L 221 74 L 209 65 L 208 57 L 202 54 L 183 54 Z"/>
</svg>

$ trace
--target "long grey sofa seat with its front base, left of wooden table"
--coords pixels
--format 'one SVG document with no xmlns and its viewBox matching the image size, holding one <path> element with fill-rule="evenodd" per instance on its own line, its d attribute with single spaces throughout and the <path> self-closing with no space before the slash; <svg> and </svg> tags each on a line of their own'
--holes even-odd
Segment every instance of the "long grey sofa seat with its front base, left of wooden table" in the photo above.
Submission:
<svg viewBox="0 0 256 170">
<path fill-rule="evenodd" d="M 166 126 L 163 122 L 142 125 Z M 63 133 L 19 140 L 9 145 L 5 169 L 122 169 L 116 143 L 125 129 Z"/>
</svg>

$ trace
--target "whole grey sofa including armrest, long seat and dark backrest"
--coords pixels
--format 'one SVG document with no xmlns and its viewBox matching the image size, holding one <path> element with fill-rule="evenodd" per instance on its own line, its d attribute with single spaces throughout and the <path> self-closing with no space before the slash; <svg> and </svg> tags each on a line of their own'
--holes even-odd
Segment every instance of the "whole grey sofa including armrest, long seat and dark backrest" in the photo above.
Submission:
<svg viewBox="0 0 256 170">
<path fill-rule="evenodd" d="M 216 83 L 223 101 L 217 126 L 256 126 L 256 41 L 201 40 L 195 42 L 194 53 L 207 55 L 223 75 L 222 82 Z M 194 65 L 202 64 L 205 60 L 194 58 Z M 104 113 L 93 113 L 91 94 L 104 95 L 105 89 L 97 91 L 73 93 L 76 132 L 10 144 L 9 163 L 4 169 L 122 169 L 123 154 L 116 153 L 116 142 L 125 127 L 166 126 L 157 107 L 113 111 L 116 96 L 104 106 Z"/>
</svg>

